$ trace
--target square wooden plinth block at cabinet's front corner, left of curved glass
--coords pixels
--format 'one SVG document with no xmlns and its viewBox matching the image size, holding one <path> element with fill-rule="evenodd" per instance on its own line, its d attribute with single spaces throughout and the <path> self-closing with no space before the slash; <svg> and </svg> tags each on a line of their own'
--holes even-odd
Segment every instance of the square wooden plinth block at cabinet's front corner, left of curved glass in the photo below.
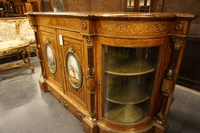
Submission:
<svg viewBox="0 0 200 133">
<path fill-rule="evenodd" d="M 96 121 L 91 121 L 89 118 L 85 117 L 82 120 L 84 133 L 97 133 Z"/>
</svg>

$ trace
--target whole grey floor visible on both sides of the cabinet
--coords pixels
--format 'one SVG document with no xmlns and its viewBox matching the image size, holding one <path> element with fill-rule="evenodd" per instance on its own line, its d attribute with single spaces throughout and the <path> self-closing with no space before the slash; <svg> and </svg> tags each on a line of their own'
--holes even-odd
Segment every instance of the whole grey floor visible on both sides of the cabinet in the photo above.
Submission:
<svg viewBox="0 0 200 133">
<path fill-rule="evenodd" d="M 39 89 L 40 64 L 35 73 L 24 68 L 0 72 L 0 133 L 83 133 L 81 122 L 50 93 Z M 168 133 L 199 133 L 200 93 L 177 85 Z"/>
</svg>

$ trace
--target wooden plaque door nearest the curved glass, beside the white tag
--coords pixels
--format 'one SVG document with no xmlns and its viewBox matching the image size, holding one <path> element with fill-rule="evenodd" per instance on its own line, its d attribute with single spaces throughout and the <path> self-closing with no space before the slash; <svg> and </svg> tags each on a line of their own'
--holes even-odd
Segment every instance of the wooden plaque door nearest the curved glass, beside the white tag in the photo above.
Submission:
<svg viewBox="0 0 200 133">
<path fill-rule="evenodd" d="M 85 53 L 84 40 L 82 35 L 70 31 L 60 31 L 62 34 L 63 46 L 62 56 L 66 90 L 65 94 L 72 97 L 78 104 L 87 105 L 85 87 Z"/>
</svg>

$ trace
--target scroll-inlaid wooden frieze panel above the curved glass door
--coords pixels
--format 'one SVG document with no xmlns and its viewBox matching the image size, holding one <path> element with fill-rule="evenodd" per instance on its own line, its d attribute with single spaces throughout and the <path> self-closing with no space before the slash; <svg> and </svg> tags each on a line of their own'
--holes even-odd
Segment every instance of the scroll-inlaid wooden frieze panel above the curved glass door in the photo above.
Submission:
<svg viewBox="0 0 200 133">
<path fill-rule="evenodd" d="M 155 38 L 166 36 L 166 33 L 170 32 L 171 25 L 165 22 L 152 22 L 146 23 L 145 21 L 129 21 L 124 24 L 122 21 L 110 21 L 102 20 L 97 23 L 97 34 L 101 36 L 109 37 L 127 37 L 127 38 Z"/>
</svg>

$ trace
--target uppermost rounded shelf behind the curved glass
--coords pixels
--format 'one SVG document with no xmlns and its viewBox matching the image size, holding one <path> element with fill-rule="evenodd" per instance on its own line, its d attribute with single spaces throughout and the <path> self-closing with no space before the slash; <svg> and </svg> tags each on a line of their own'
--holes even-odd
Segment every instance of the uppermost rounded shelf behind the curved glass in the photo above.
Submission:
<svg viewBox="0 0 200 133">
<path fill-rule="evenodd" d="M 134 76 L 153 72 L 155 68 L 145 59 L 124 59 L 105 67 L 105 72 L 120 76 Z"/>
</svg>

